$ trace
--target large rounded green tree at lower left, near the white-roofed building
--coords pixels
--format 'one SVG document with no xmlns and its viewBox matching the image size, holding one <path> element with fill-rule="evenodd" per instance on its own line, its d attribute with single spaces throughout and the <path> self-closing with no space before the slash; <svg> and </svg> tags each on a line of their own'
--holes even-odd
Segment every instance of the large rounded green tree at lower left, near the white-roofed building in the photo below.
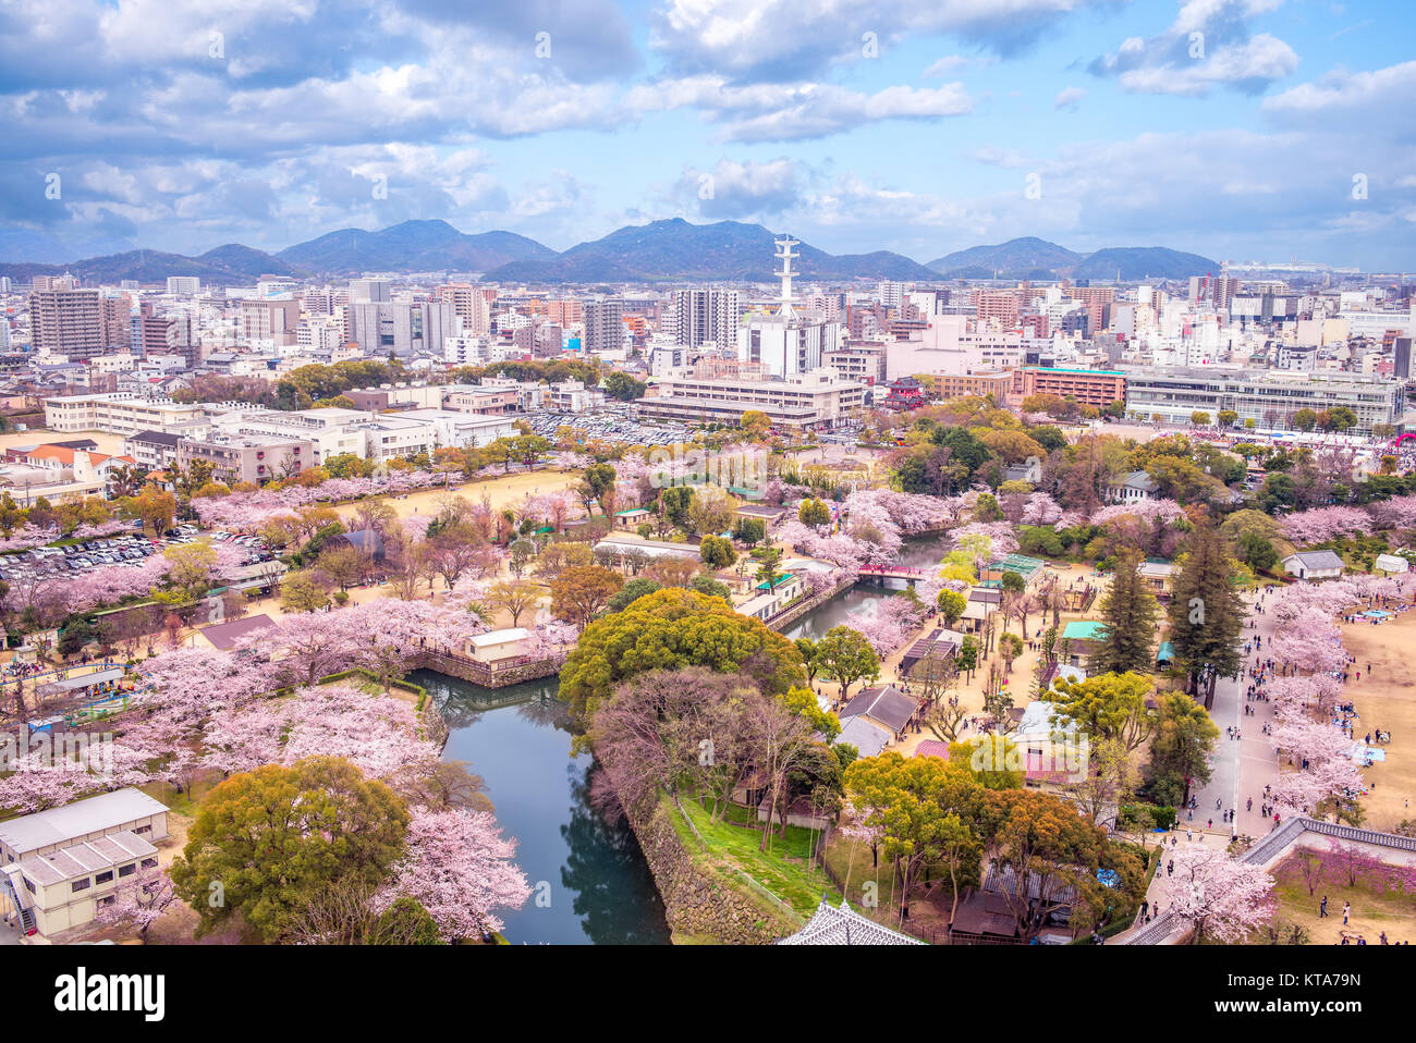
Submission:
<svg viewBox="0 0 1416 1043">
<path fill-rule="evenodd" d="M 170 876 L 197 911 L 198 937 L 239 913 L 273 943 L 312 896 L 346 882 L 382 883 L 406 831 L 399 797 L 347 760 L 268 764 L 207 794 Z"/>
</svg>

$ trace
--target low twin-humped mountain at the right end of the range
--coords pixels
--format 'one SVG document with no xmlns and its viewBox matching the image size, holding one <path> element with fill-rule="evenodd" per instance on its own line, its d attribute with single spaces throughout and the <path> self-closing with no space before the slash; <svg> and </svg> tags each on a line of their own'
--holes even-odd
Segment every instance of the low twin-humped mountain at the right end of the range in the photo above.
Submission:
<svg viewBox="0 0 1416 1043">
<path fill-rule="evenodd" d="M 1185 279 L 1218 272 L 1219 263 L 1164 246 L 1117 246 L 1075 253 L 1055 242 L 1027 236 L 997 246 L 970 246 L 929 262 L 950 279 Z"/>
</svg>

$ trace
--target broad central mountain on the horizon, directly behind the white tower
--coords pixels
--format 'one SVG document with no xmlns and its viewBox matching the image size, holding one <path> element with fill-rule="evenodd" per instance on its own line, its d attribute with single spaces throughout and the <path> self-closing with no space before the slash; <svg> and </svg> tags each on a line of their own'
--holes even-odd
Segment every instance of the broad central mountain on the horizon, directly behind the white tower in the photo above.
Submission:
<svg viewBox="0 0 1416 1043">
<path fill-rule="evenodd" d="M 762 225 L 683 218 L 627 225 L 572 246 L 555 260 L 507 265 L 487 273 L 501 282 L 770 282 L 776 235 Z M 831 255 L 801 243 L 797 270 L 816 279 L 933 279 L 935 273 L 888 250 Z"/>
</svg>

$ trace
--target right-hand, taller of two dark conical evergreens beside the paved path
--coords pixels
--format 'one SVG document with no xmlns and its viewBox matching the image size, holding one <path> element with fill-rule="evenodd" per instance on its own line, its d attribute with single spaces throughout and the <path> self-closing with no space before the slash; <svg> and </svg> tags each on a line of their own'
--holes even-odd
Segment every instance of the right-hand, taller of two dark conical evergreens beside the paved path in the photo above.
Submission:
<svg viewBox="0 0 1416 1043">
<path fill-rule="evenodd" d="M 1239 635 L 1245 607 L 1231 582 L 1238 572 L 1225 553 L 1223 541 L 1212 525 L 1195 529 L 1189 555 L 1175 577 L 1170 603 L 1170 640 L 1175 661 L 1185 668 L 1187 688 L 1199 693 L 1205 684 L 1205 706 L 1214 705 L 1221 674 L 1238 674 L 1243 657 Z"/>
</svg>

